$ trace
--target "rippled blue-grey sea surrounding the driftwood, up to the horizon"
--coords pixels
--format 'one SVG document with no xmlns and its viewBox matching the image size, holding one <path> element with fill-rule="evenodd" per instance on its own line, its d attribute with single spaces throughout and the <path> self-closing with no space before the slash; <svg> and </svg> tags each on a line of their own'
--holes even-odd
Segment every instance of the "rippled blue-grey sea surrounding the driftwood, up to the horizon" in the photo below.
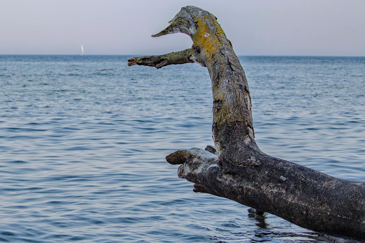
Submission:
<svg viewBox="0 0 365 243">
<path fill-rule="evenodd" d="M 131 56 L 0 56 L 0 242 L 323 242 L 192 192 L 165 156 L 212 145 L 206 68 Z M 365 181 L 365 58 L 240 56 L 255 140 Z"/>
</svg>

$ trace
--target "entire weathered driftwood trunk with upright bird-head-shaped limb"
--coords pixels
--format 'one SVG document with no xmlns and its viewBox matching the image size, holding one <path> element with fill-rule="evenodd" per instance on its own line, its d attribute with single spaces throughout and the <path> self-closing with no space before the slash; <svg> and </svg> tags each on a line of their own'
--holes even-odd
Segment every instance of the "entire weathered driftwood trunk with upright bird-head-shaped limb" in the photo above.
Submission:
<svg viewBox="0 0 365 243">
<path fill-rule="evenodd" d="M 128 65 L 161 68 L 196 62 L 208 68 L 218 155 L 199 148 L 168 155 L 170 164 L 181 164 L 178 176 L 195 183 L 194 192 L 226 197 L 303 228 L 365 242 L 365 183 L 337 179 L 261 152 L 254 140 L 245 72 L 216 17 L 187 6 L 169 23 L 153 36 L 181 32 L 191 37 L 192 47 L 131 58 Z"/>
</svg>

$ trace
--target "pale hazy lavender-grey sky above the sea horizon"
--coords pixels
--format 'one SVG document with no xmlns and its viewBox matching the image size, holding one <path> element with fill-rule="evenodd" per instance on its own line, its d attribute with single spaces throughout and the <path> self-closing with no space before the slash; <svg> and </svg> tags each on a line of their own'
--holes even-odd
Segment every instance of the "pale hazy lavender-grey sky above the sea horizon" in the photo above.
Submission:
<svg viewBox="0 0 365 243">
<path fill-rule="evenodd" d="M 0 54 L 180 51 L 189 36 L 151 35 L 186 5 L 217 16 L 238 55 L 365 56 L 365 0 L 0 0 Z"/>
</svg>

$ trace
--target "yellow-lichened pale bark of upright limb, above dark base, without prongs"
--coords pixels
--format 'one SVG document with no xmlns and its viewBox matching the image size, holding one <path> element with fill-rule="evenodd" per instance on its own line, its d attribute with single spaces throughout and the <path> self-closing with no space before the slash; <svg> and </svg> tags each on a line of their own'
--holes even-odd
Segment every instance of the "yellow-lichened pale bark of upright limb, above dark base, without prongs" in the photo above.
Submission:
<svg viewBox="0 0 365 243">
<path fill-rule="evenodd" d="M 186 8 L 196 23 L 196 31 L 191 33 L 195 61 L 206 66 L 211 77 L 213 123 L 243 121 L 252 128 L 247 80 L 231 42 L 214 15 L 197 7 Z"/>
</svg>

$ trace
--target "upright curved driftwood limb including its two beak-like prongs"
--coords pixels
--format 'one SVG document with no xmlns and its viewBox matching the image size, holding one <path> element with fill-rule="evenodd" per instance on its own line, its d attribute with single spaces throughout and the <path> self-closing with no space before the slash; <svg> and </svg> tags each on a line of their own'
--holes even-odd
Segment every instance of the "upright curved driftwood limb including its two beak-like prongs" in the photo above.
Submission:
<svg viewBox="0 0 365 243">
<path fill-rule="evenodd" d="M 201 8 L 183 7 L 169 23 L 165 30 L 153 37 L 181 32 L 191 37 L 192 47 L 160 56 L 131 58 L 128 65 L 161 68 L 171 64 L 196 62 L 207 67 L 212 82 L 212 130 L 218 156 L 223 156 L 223 161 L 236 161 L 240 157 L 238 164 L 245 164 L 247 156 L 254 156 L 252 151 L 261 151 L 254 141 L 251 98 L 245 72 L 231 42 L 216 17 Z M 234 153 L 232 149 L 235 148 L 240 149 Z"/>
</svg>

